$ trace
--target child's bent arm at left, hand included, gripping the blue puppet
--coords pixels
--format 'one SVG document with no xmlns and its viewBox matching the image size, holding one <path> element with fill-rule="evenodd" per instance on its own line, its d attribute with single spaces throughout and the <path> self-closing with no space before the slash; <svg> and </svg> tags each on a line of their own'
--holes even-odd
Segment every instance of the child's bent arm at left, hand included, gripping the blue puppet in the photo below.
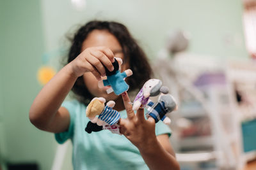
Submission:
<svg viewBox="0 0 256 170">
<path fill-rule="evenodd" d="M 104 64 L 113 70 L 114 55 L 109 48 L 86 48 L 76 59 L 63 67 L 39 92 L 29 110 L 29 119 L 38 129 L 63 132 L 68 129 L 70 117 L 60 107 L 79 76 L 92 72 L 96 78 L 105 74 Z"/>
</svg>

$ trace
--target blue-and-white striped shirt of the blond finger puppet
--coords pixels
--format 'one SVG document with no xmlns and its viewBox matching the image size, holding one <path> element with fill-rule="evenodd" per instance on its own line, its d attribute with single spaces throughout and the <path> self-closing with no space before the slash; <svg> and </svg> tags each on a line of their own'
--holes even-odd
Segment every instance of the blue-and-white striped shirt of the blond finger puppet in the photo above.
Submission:
<svg viewBox="0 0 256 170">
<path fill-rule="evenodd" d="M 98 118 L 109 125 L 114 125 L 120 119 L 120 113 L 109 106 L 105 106 Z"/>
</svg>

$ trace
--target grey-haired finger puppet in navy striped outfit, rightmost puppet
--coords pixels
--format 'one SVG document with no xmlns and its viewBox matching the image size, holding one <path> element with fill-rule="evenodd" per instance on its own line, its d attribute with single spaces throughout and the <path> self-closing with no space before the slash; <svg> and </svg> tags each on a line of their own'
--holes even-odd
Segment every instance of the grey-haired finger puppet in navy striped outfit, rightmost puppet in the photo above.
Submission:
<svg viewBox="0 0 256 170">
<path fill-rule="evenodd" d="M 158 101 L 153 103 L 152 101 L 148 102 L 148 112 L 146 113 L 146 117 L 154 118 L 155 122 L 157 123 L 159 120 L 162 120 L 164 124 L 170 124 L 170 118 L 166 117 L 166 113 L 170 113 L 174 110 L 177 110 L 177 104 L 175 99 L 172 95 L 164 92 L 162 93 Z"/>
</svg>

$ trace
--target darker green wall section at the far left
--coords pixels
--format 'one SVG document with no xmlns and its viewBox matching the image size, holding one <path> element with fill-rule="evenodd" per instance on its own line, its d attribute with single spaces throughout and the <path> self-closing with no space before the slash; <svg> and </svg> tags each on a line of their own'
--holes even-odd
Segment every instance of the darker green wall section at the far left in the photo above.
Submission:
<svg viewBox="0 0 256 170">
<path fill-rule="evenodd" d="M 1 111 L 6 160 L 39 162 L 51 169 L 53 135 L 29 122 L 29 108 L 40 85 L 36 71 L 42 64 L 44 38 L 40 1 L 1 1 Z"/>
</svg>

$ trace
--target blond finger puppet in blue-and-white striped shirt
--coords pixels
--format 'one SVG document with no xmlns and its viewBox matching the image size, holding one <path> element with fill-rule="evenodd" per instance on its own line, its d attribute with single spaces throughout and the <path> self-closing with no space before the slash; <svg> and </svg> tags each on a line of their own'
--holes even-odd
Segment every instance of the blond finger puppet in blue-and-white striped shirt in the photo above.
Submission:
<svg viewBox="0 0 256 170">
<path fill-rule="evenodd" d="M 106 129 L 106 125 L 115 125 L 120 119 L 120 113 L 113 110 L 114 101 L 109 101 L 106 106 L 106 99 L 103 97 L 95 97 L 86 108 L 86 117 L 90 122 L 86 125 L 85 131 L 88 133 L 99 132 Z M 98 116 L 98 117 L 97 117 Z"/>
</svg>

